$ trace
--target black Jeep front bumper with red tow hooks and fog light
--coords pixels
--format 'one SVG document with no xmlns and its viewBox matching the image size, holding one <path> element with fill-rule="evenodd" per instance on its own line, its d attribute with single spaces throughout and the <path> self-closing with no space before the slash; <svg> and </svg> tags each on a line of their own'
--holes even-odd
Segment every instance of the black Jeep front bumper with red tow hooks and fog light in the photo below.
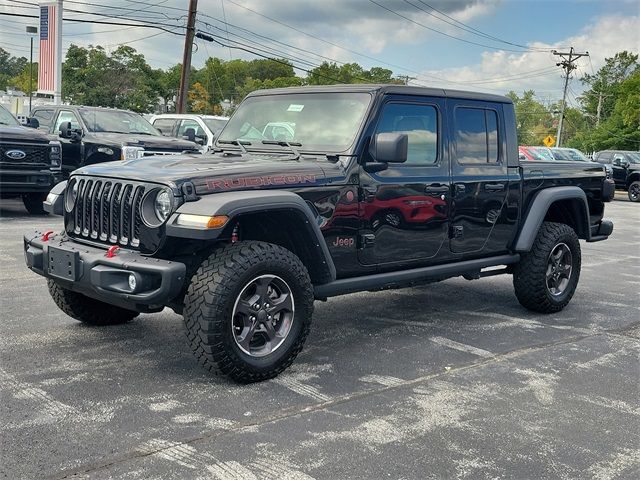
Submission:
<svg viewBox="0 0 640 480">
<path fill-rule="evenodd" d="M 182 291 L 183 263 L 124 249 L 108 258 L 106 249 L 84 245 L 64 234 L 43 238 L 39 230 L 24 235 L 27 267 L 69 290 L 139 312 L 162 310 Z M 136 279 L 135 290 L 129 287 L 131 275 Z"/>
</svg>

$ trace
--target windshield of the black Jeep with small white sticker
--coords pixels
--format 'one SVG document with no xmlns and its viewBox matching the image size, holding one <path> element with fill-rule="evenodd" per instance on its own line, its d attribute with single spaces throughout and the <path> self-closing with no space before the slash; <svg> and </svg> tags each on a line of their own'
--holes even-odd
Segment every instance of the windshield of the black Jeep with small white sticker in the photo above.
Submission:
<svg viewBox="0 0 640 480">
<path fill-rule="evenodd" d="M 240 140 L 264 148 L 263 142 L 289 142 L 301 150 L 342 152 L 355 140 L 370 102 L 368 93 L 249 97 L 231 117 L 218 143 Z"/>
</svg>

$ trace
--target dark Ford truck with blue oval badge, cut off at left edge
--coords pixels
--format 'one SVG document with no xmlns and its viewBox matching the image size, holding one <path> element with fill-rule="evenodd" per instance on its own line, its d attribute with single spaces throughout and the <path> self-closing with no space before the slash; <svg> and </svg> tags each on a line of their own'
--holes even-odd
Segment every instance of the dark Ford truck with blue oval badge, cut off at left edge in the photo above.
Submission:
<svg viewBox="0 0 640 480">
<path fill-rule="evenodd" d="M 22 126 L 0 106 L 0 198 L 21 197 L 29 213 L 44 213 L 42 202 L 62 180 L 61 155 L 59 141 Z"/>
</svg>

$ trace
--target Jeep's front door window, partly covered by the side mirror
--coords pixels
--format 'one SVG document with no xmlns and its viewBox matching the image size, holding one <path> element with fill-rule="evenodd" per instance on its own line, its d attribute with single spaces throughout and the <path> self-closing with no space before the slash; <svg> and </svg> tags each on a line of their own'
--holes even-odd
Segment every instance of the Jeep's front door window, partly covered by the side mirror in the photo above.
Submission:
<svg viewBox="0 0 640 480">
<path fill-rule="evenodd" d="M 433 165 L 438 161 L 438 112 L 431 105 L 387 103 L 376 133 L 406 133 L 408 165 Z"/>
</svg>

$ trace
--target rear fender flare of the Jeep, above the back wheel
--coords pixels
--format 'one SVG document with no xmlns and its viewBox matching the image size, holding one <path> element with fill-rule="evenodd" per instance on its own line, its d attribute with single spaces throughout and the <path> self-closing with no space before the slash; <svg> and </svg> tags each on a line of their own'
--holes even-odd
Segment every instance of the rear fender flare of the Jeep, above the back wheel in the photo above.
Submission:
<svg viewBox="0 0 640 480">
<path fill-rule="evenodd" d="M 520 233 L 515 242 L 514 250 L 516 252 L 528 252 L 533 247 L 533 242 L 538 235 L 538 230 L 544 221 L 544 217 L 549 211 L 549 207 L 558 200 L 578 200 L 581 202 L 584 208 L 581 208 L 581 216 L 578 220 L 584 222 L 586 231 L 586 240 L 590 237 L 589 228 L 589 204 L 587 203 L 587 195 L 579 187 L 551 187 L 545 188 L 538 193 L 529 209 L 526 216 L 523 218 L 524 224 L 520 229 Z"/>
</svg>

